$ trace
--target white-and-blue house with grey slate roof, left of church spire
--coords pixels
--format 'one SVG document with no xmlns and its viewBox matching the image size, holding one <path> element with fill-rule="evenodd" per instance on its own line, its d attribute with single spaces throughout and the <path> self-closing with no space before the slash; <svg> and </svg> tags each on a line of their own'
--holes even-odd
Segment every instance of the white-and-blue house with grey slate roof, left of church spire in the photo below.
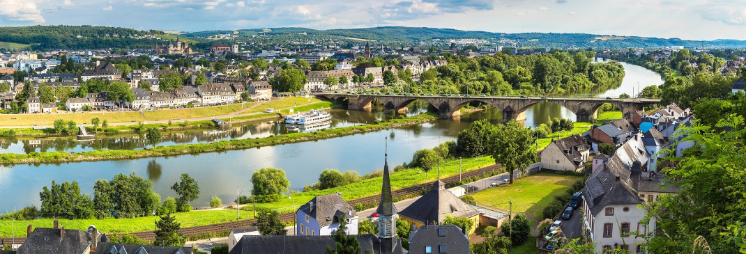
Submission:
<svg viewBox="0 0 746 254">
<path fill-rule="evenodd" d="M 298 221 L 295 235 L 332 235 L 340 223 L 347 225 L 348 235 L 357 235 L 357 212 L 339 193 L 314 197 L 298 208 L 295 215 Z M 339 220 L 341 215 L 345 216 L 344 221 Z"/>
</svg>

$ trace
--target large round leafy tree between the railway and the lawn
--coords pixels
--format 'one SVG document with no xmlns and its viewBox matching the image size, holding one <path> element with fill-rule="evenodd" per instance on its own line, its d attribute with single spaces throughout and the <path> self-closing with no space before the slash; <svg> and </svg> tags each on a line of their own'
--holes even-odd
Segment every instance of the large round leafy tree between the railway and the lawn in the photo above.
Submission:
<svg viewBox="0 0 746 254">
<path fill-rule="evenodd" d="M 536 149 L 532 147 L 536 137 L 531 129 L 516 121 L 499 124 L 489 142 L 489 153 L 492 153 L 495 163 L 503 165 L 507 170 L 510 183 L 513 183 L 516 169 L 524 171 L 528 165 L 536 162 Z"/>
</svg>

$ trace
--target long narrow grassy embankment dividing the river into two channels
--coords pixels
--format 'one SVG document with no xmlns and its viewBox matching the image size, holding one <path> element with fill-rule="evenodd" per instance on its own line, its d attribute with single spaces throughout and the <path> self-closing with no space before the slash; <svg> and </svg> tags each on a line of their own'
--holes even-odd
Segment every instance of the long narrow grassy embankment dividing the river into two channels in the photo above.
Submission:
<svg viewBox="0 0 746 254">
<path fill-rule="evenodd" d="M 404 127 L 434 121 L 433 114 L 421 114 L 408 118 L 398 118 L 377 124 L 364 124 L 351 127 L 341 127 L 329 130 L 319 130 L 312 133 L 290 133 L 280 136 L 269 136 L 257 139 L 232 139 L 209 144 L 172 145 L 164 147 L 149 147 L 144 150 L 95 150 L 79 153 L 43 152 L 43 153 L 2 153 L 0 163 L 58 163 L 85 162 L 98 160 L 138 159 L 158 156 L 175 156 L 181 154 L 210 153 L 223 150 L 239 150 L 267 145 L 281 145 L 295 142 L 307 142 L 319 139 L 330 139 L 357 133 L 367 133 L 376 130 Z"/>
</svg>

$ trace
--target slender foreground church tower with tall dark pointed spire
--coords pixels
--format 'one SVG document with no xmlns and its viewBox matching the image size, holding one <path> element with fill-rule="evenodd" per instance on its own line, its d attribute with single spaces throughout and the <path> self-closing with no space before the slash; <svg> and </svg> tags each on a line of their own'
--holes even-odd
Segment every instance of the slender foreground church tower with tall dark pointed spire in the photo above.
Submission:
<svg viewBox="0 0 746 254">
<path fill-rule="evenodd" d="M 386 146 L 388 147 L 388 144 Z M 391 197 L 388 152 L 384 153 L 383 156 L 383 186 L 380 190 L 380 204 L 376 213 L 378 214 L 378 238 L 381 239 L 381 248 L 386 253 L 390 253 L 396 245 L 394 241 L 396 238 L 396 218 L 398 215 Z"/>
</svg>

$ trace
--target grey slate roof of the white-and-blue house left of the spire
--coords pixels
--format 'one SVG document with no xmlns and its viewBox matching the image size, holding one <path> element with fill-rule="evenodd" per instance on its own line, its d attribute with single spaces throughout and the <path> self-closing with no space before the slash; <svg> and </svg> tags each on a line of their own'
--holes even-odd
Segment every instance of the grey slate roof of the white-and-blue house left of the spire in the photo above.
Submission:
<svg viewBox="0 0 746 254">
<path fill-rule="evenodd" d="M 313 200 L 304 203 L 298 209 L 310 217 L 316 218 L 319 226 L 329 226 L 333 223 L 339 223 L 339 215 L 345 215 L 347 218 L 357 216 L 355 209 L 342 199 L 342 194 L 333 193 L 323 196 L 316 196 Z"/>
</svg>

